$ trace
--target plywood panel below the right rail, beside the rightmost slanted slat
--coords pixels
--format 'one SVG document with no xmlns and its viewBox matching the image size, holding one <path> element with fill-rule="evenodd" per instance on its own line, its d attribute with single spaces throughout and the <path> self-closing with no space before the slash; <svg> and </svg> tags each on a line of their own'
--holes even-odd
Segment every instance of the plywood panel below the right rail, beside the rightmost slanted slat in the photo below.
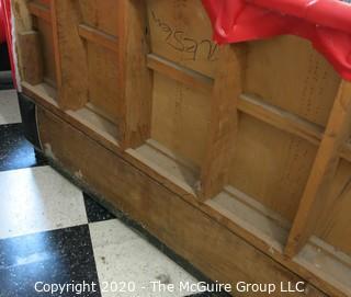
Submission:
<svg viewBox="0 0 351 297">
<path fill-rule="evenodd" d="M 246 114 L 239 118 L 230 185 L 292 220 L 316 147 Z"/>
</svg>

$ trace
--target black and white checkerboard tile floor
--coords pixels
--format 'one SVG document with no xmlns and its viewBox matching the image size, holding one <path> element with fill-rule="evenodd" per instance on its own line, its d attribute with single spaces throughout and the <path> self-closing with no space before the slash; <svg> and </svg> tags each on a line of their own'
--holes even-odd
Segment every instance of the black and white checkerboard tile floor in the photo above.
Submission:
<svg viewBox="0 0 351 297">
<path fill-rule="evenodd" d="M 154 290 L 158 281 L 174 292 Z M 97 285 L 79 295 L 83 282 Z M 16 92 L 0 91 L 0 297 L 190 295 L 180 282 L 196 279 L 36 160 L 22 135 Z M 55 284 L 76 286 L 44 292 Z"/>
</svg>

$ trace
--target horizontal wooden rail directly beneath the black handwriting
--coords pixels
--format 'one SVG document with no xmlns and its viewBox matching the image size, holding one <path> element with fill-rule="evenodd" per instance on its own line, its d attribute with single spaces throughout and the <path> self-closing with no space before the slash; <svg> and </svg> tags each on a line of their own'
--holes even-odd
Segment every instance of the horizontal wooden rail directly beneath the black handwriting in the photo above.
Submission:
<svg viewBox="0 0 351 297">
<path fill-rule="evenodd" d="M 155 54 L 147 55 L 147 66 L 189 87 L 212 92 L 214 80 L 186 67 L 167 60 Z"/>
</svg>

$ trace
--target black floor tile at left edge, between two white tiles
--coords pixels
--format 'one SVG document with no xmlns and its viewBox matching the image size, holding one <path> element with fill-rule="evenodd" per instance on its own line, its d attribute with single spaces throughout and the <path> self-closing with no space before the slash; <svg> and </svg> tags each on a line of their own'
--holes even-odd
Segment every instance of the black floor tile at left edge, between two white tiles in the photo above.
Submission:
<svg viewBox="0 0 351 297">
<path fill-rule="evenodd" d="M 36 159 L 33 146 L 24 138 L 22 124 L 0 125 L 0 171 L 46 164 Z"/>
</svg>

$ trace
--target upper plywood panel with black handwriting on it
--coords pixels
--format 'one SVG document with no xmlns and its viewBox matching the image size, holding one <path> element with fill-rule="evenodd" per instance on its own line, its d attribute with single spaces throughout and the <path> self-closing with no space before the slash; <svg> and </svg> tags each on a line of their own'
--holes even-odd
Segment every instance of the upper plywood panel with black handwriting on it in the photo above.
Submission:
<svg viewBox="0 0 351 297">
<path fill-rule="evenodd" d="M 148 0 L 151 52 L 208 77 L 215 76 L 218 46 L 200 0 Z"/>
</svg>

